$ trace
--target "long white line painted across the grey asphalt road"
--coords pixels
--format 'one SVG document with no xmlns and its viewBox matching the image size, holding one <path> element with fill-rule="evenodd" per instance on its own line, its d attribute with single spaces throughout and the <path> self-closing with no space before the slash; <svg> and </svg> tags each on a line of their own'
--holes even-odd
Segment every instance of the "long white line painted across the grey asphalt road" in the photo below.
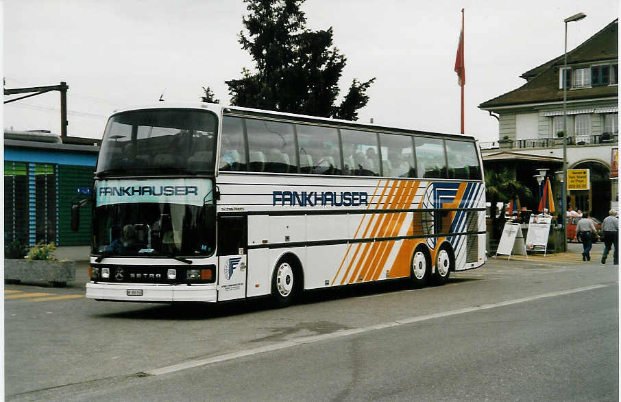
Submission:
<svg viewBox="0 0 621 402">
<path fill-rule="evenodd" d="M 435 318 L 443 318 L 443 317 L 448 317 L 448 316 L 455 316 L 457 314 L 471 313 L 473 311 L 480 311 L 480 310 L 486 310 L 486 309 L 494 309 L 496 307 L 515 305 L 515 304 L 518 304 L 518 303 L 526 303 L 526 302 L 533 301 L 533 300 L 539 300 L 541 298 L 549 298 L 549 297 L 555 297 L 555 296 L 564 296 L 566 294 L 572 294 L 572 293 L 577 293 L 577 292 L 585 292 L 587 290 L 600 289 L 602 287 L 608 287 L 608 286 L 609 285 L 592 285 L 592 286 L 585 286 L 585 287 L 576 287 L 574 289 L 561 290 L 559 292 L 538 294 L 538 295 L 535 295 L 535 296 L 524 297 L 524 298 L 516 298 L 516 299 L 513 299 L 513 300 L 506 300 L 506 301 L 498 302 L 498 303 L 490 303 L 490 304 L 487 304 L 487 305 L 465 307 L 463 309 L 456 309 L 456 310 L 450 310 L 450 311 L 442 311 L 440 313 L 427 314 L 425 316 L 418 316 L 418 317 L 404 318 L 404 319 L 401 319 L 401 320 L 395 320 L 395 321 L 390 321 L 390 322 L 383 322 L 381 324 L 375 324 L 375 325 L 372 325 L 370 327 L 345 329 L 345 330 L 336 331 L 336 332 L 332 332 L 332 333 L 321 334 L 321 335 L 310 335 L 310 336 L 305 336 L 305 337 L 302 337 L 302 338 L 295 338 L 295 339 L 292 339 L 292 340 L 287 340 L 287 341 L 284 341 L 284 342 L 278 342 L 276 344 L 272 344 L 272 345 L 268 345 L 268 346 L 261 346 L 261 347 L 258 347 L 258 348 L 246 349 L 245 351 L 237 351 L 237 352 L 233 352 L 233 353 L 226 353 L 224 355 L 207 357 L 205 359 L 189 360 L 188 362 L 183 362 L 183 363 L 179 363 L 179 364 L 173 364 L 171 366 L 156 368 L 154 370 L 147 370 L 147 371 L 145 371 L 143 373 L 146 374 L 146 375 L 163 375 L 163 374 L 168 374 L 168 373 L 175 373 L 176 371 L 186 370 L 187 368 L 195 368 L 195 367 L 199 367 L 199 366 L 206 366 L 208 364 L 214 364 L 214 363 L 218 363 L 218 362 L 226 362 L 226 361 L 232 360 L 232 359 L 238 359 L 239 357 L 246 357 L 246 356 L 251 356 L 251 355 L 258 355 L 259 353 L 278 351 L 280 349 L 290 348 L 291 346 L 300 346 L 302 344 L 310 344 L 310 343 L 315 343 L 315 342 L 319 342 L 319 341 L 322 341 L 322 340 L 342 338 L 344 336 L 354 335 L 354 334 L 357 334 L 357 333 L 364 333 L 364 332 L 369 332 L 369 331 L 375 331 L 375 330 L 378 330 L 378 329 L 397 327 L 399 325 L 411 324 L 413 322 L 421 322 L 421 321 L 426 321 L 426 320 L 433 320 Z"/>
</svg>

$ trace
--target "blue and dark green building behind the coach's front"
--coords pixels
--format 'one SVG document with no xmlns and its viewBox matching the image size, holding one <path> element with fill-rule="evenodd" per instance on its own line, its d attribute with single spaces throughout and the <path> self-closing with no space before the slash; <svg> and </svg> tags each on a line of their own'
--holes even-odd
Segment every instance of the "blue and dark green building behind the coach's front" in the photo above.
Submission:
<svg viewBox="0 0 621 402">
<path fill-rule="evenodd" d="M 8 132 L 4 139 L 4 241 L 88 246 L 90 220 L 71 231 L 71 202 L 93 187 L 99 141 L 47 132 Z M 90 217 L 90 204 L 83 217 Z"/>
</svg>

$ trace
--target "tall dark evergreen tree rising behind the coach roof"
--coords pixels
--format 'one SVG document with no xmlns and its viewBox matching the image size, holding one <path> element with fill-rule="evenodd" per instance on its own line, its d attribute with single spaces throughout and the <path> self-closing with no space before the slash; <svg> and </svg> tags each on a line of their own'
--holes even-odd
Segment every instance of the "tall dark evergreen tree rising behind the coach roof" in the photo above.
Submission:
<svg viewBox="0 0 621 402">
<path fill-rule="evenodd" d="M 243 69 L 239 79 L 226 81 L 231 103 L 302 115 L 356 120 L 369 101 L 375 78 L 354 78 L 343 98 L 339 79 L 347 59 L 332 43 L 332 27 L 311 31 L 300 10 L 304 0 L 244 0 L 249 14 L 239 43 L 256 67 Z"/>
</svg>

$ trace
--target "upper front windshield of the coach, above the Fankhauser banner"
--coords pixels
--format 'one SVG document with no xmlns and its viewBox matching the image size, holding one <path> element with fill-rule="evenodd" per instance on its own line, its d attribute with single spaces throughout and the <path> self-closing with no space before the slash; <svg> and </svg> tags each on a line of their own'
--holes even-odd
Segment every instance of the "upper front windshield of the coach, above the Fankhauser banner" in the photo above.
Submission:
<svg viewBox="0 0 621 402">
<path fill-rule="evenodd" d="M 208 110 L 118 113 L 108 120 L 96 174 L 214 174 L 216 130 Z"/>
</svg>

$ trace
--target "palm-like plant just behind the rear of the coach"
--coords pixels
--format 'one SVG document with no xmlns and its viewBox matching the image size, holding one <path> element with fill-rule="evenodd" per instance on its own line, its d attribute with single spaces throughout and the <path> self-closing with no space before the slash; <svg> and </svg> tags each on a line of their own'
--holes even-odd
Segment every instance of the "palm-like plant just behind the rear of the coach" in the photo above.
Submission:
<svg viewBox="0 0 621 402">
<path fill-rule="evenodd" d="M 526 200 L 533 197 L 533 192 L 521 182 L 515 180 L 513 174 L 505 168 L 500 172 L 494 170 L 487 170 L 485 172 L 485 197 L 487 202 L 491 203 L 489 215 L 491 215 L 493 228 L 492 237 L 498 238 L 499 228 L 498 218 L 496 217 L 496 204 L 502 202 L 502 211 L 504 211 L 504 203 L 508 200 L 514 200 L 515 198 Z"/>
</svg>

